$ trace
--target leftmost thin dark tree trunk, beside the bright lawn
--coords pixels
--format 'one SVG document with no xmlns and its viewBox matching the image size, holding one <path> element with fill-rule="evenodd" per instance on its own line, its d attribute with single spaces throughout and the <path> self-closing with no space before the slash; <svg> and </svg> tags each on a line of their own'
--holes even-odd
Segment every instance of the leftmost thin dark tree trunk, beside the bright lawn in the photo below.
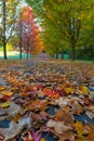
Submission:
<svg viewBox="0 0 94 141">
<path fill-rule="evenodd" d="M 3 1 L 3 55 L 6 60 L 6 39 L 5 39 L 5 1 Z"/>
</svg>

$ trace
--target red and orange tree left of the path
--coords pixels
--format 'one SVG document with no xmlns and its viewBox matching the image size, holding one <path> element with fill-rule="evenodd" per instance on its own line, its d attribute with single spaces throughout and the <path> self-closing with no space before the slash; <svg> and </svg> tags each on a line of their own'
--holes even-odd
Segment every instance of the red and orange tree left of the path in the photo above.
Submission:
<svg viewBox="0 0 94 141">
<path fill-rule="evenodd" d="M 25 7 L 19 15 L 22 16 L 18 16 L 16 27 L 19 35 L 22 35 L 22 47 L 26 51 L 28 59 L 28 53 L 38 53 L 41 51 L 40 30 L 36 23 L 35 13 L 30 7 Z M 22 33 L 19 29 L 22 29 Z"/>
</svg>

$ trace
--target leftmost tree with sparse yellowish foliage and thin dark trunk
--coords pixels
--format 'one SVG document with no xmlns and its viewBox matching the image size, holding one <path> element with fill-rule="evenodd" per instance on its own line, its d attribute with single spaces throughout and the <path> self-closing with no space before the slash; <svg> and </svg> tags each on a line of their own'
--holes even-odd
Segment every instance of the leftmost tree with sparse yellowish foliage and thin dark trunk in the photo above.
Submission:
<svg viewBox="0 0 94 141">
<path fill-rule="evenodd" d="M 18 13 L 18 0 L 1 0 L 0 1 L 0 42 L 3 46 L 3 55 L 6 60 L 6 43 L 13 34 L 16 15 Z"/>
</svg>

